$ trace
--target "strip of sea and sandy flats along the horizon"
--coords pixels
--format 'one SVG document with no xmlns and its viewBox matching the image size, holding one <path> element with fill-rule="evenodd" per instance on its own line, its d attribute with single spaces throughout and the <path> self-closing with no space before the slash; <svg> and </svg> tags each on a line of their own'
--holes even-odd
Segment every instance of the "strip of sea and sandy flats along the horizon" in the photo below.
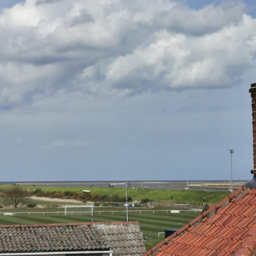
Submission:
<svg viewBox="0 0 256 256">
<path fill-rule="evenodd" d="M 127 181 L 127 187 L 141 189 L 177 189 L 182 190 L 187 188 L 193 190 L 207 191 L 227 191 L 230 188 L 229 180 L 132 180 Z M 233 181 L 233 185 L 243 185 L 247 181 Z M 9 181 L 2 182 L 5 184 L 19 184 L 23 186 L 49 186 L 49 187 L 125 187 L 125 181 Z"/>
</svg>

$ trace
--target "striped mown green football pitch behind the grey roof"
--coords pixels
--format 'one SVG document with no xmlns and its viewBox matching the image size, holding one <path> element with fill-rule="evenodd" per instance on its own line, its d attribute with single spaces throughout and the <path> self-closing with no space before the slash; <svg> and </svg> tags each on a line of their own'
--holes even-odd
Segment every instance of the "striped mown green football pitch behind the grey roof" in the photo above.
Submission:
<svg viewBox="0 0 256 256">
<path fill-rule="evenodd" d="M 63 208 L 60 209 L 63 211 Z M 123 210 L 124 212 L 97 212 L 99 210 L 110 210 L 110 208 L 96 208 L 94 211 L 94 222 L 113 222 L 113 221 L 126 221 L 126 212 L 124 208 L 115 208 L 112 210 Z M 145 210 L 145 209 L 143 209 Z M 37 223 L 74 223 L 74 222 L 91 222 L 92 218 L 89 215 L 68 215 L 57 213 L 30 213 L 28 211 L 58 211 L 55 209 L 0 209 L 1 212 L 21 212 L 26 213 L 15 214 L 12 216 L 0 215 L 0 224 L 37 224 Z M 145 242 L 146 249 L 150 249 L 159 241 L 164 239 L 164 234 L 160 234 L 158 238 L 158 232 L 164 232 L 165 229 L 179 229 L 186 223 L 198 216 L 199 213 L 195 212 L 181 212 L 181 213 L 166 213 L 156 212 L 129 212 L 129 221 L 139 221 L 141 232 L 143 236 L 147 236 L 148 241 Z"/>
</svg>

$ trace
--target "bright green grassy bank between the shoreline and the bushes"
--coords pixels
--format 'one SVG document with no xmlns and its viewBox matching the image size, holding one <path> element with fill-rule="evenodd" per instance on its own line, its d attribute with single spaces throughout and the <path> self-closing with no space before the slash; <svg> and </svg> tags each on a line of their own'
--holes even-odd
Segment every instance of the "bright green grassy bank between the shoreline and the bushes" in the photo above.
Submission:
<svg viewBox="0 0 256 256">
<path fill-rule="evenodd" d="M 90 190 L 91 193 L 98 195 L 118 194 L 125 197 L 125 188 L 108 188 L 108 187 L 32 187 L 21 186 L 24 189 L 33 191 L 34 189 L 42 189 L 43 191 L 74 191 L 82 192 L 82 190 Z M 12 185 L 1 186 L 1 189 L 13 188 Z M 128 195 L 133 201 L 141 201 L 141 199 L 153 199 L 154 201 L 175 201 L 176 203 L 203 203 L 204 197 L 207 203 L 218 203 L 230 194 L 228 191 L 202 191 L 202 190 L 175 190 L 175 189 L 131 189 L 128 188 Z M 172 198 L 172 199 L 171 199 Z"/>
</svg>

